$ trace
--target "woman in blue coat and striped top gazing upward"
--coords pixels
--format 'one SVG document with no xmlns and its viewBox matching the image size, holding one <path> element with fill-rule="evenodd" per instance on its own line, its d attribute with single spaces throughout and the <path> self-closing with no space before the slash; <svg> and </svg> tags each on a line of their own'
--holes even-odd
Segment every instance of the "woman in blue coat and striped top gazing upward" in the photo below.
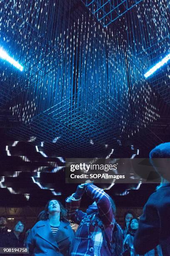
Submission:
<svg viewBox="0 0 170 256">
<path fill-rule="evenodd" d="M 33 256 L 69 256 L 74 243 L 74 232 L 65 219 L 62 204 L 52 199 L 47 202 L 44 212 L 31 229 L 26 246 Z"/>
</svg>

